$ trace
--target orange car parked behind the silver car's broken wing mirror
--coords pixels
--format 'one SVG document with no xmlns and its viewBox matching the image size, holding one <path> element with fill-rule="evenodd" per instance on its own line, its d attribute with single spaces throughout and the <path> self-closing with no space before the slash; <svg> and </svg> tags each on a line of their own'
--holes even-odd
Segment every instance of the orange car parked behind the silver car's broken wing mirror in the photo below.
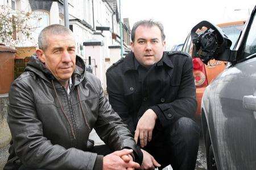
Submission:
<svg viewBox="0 0 256 170">
<path fill-rule="evenodd" d="M 238 37 L 240 36 L 240 32 L 242 31 L 243 24 L 245 21 L 238 22 L 229 22 L 218 24 L 217 26 L 225 32 L 230 40 L 232 40 L 232 46 L 230 49 L 234 47 Z M 200 31 L 200 30 L 199 30 Z M 189 53 L 190 56 L 193 54 L 193 44 L 191 40 L 191 35 L 187 36 L 185 43 L 182 48 L 183 52 Z M 197 109 L 196 109 L 196 118 L 201 118 L 201 99 L 203 97 L 203 93 L 208 84 L 221 73 L 226 63 L 224 61 L 218 60 L 210 60 L 208 64 L 204 64 L 199 58 L 192 56 L 193 61 L 193 74 L 195 76 L 195 84 L 196 84 L 196 100 L 197 100 Z"/>
</svg>

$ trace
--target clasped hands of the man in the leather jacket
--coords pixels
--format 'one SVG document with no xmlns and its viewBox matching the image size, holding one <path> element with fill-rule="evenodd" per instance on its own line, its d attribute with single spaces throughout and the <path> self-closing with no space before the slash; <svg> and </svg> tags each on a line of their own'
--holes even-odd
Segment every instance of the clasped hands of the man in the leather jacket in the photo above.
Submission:
<svg viewBox="0 0 256 170">
<path fill-rule="evenodd" d="M 115 151 L 112 154 L 106 155 L 103 158 L 103 170 L 124 170 L 139 168 L 139 164 L 133 161 L 133 158 L 129 156 L 133 150 L 123 149 L 121 151 Z M 124 160 L 123 160 L 123 159 Z"/>
</svg>

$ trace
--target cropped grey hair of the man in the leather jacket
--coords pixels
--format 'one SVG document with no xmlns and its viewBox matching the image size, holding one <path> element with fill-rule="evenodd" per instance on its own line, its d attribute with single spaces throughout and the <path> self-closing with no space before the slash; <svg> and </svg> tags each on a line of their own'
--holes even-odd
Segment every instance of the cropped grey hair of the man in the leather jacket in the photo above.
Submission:
<svg viewBox="0 0 256 170">
<path fill-rule="evenodd" d="M 47 36 L 60 35 L 60 34 L 71 35 L 72 37 L 74 37 L 73 32 L 71 30 L 69 30 L 69 28 L 64 27 L 60 24 L 52 24 L 48 27 L 43 28 L 43 30 L 40 32 L 40 34 L 38 36 L 39 49 L 42 49 L 43 51 L 45 51 L 47 49 L 47 47 L 48 47 Z"/>
</svg>

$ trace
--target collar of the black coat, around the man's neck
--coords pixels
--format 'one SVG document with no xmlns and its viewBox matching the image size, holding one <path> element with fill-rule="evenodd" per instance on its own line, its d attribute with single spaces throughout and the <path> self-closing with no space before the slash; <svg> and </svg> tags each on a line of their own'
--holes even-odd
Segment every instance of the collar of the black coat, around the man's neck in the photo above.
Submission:
<svg viewBox="0 0 256 170">
<path fill-rule="evenodd" d="M 123 59 L 124 72 L 127 72 L 129 70 L 137 70 L 138 65 L 135 64 L 134 60 L 135 60 L 135 56 L 133 52 L 130 52 L 125 56 L 125 59 Z M 162 59 L 158 61 L 158 63 L 156 63 L 156 66 L 161 66 L 163 64 L 167 65 L 167 67 L 169 68 L 174 68 L 174 64 L 172 64 L 172 61 L 167 55 L 167 52 L 163 53 Z"/>
</svg>

